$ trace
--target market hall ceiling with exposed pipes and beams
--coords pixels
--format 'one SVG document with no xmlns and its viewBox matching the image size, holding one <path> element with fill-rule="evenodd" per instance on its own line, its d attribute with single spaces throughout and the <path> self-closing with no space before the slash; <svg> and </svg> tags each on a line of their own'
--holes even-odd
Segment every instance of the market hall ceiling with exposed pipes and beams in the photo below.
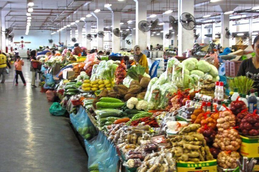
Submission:
<svg viewBox="0 0 259 172">
<path fill-rule="evenodd" d="M 8 3 L 9 2 L 9 3 Z M 5 16 L 5 26 L 12 26 L 14 29 L 26 30 L 27 22 L 27 0 L 9 0 L 8 2 L 0 0 L 0 6 L 2 8 L 2 16 Z M 85 17 L 89 12 L 93 12 L 96 9 L 96 0 L 84 1 L 84 0 L 33 0 L 34 11 L 31 13 L 31 27 L 35 30 L 57 30 L 61 27 L 79 20 L 82 16 Z M 135 2 L 133 0 L 124 0 L 119 2 L 118 0 L 98 0 L 98 8 L 100 13 L 104 13 L 104 27 L 111 26 L 111 10 L 117 10 L 122 12 L 121 22 L 124 22 L 122 28 L 133 28 L 135 23 L 126 23 L 128 20 L 135 19 Z M 104 4 L 109 2 L 112 4 L 111 9 L 104 8 Z M 169 4 L 170 2 L 170 4 Z M 168 21 L 169 15 L 162 15 L 166 10 L 174 10 L 173 15 L 177 18 L 178 0 L 148 0 L 148 16 L 156 14 L 155 18 L 159 18 L 160 21 Z M 250 13 L 250 9 L 254 6 L 258 6 L 259 2 L 256 0 L 221 0 L 219 2 L 210 2 L 209 0 L 194 0 L 195 13 L 194 17 L 198 22 L 211 22 L 220 19 L 222 12 L 234 10 L 240 14 L 246 12 L 246 17 L 259 15 L 256 11 Z M 252 4 L 253 3 L 253 4 Z M 89 5 L 88 5 L 89 4 Z M 152 10 L 151 10 L 151 4 Z M 154 8 L 153 8 L 154 7 Z M 170 7 L 170 8 L 169 8 Z M 245 10 L 245 11 L 243 11 Z M 248 13 L 247 13 L 248 12 Z M 202 18 L 202 16 L 210 14 L 210 18 Z M 149 17 L 148 17 L 149 18 Z M 151 19 L 148 19 L 149 21 Z M 96 18 L 89 17 L 85 19 L 86 22 L 91 22 L 92 27 L 96 27 Z M 74 25 L 75 26 L 75 25 Z M 68 29 L 68 28 L 67 28 Z"/>
</svg>

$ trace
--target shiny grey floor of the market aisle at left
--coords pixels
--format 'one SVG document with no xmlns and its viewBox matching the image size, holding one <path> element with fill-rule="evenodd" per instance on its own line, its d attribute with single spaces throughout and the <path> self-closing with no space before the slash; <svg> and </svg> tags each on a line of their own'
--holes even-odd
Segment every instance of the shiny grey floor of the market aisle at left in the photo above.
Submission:
<svg viewBox="0 0 259 172">
<path fill-rule="evenodd" d="M 19 85 L 13 86 L 13 65 L 0 84 L 0 171 L 87 171 L 87 156 L 69 119 L 49 114 L 51 103 L 39 88 L 31 88 L 30 63 L 24 62 L 27 86 L 20 76 Z"/>
</svg>

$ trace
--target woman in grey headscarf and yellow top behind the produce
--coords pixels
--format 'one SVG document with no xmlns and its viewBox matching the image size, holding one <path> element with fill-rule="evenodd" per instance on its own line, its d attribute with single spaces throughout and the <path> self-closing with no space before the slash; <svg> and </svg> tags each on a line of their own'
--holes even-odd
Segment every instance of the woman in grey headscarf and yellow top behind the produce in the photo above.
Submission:
<svg viewBox="0 0 259 172">
<path fill-rule="evenodd" d="M 141 65 L 146 68 L 145 72 L 149 73 L 147 56 L 141 53 L 138 45 L 134 47 L 134 62 L 131 65 Z"/>
</svg>

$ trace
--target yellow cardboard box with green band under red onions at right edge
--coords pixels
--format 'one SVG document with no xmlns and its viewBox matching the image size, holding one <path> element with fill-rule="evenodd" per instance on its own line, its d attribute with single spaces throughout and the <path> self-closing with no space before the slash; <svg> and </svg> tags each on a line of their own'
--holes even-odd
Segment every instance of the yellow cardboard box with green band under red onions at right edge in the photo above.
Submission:
<svg viewBox="0 0 259 172">
<path fill-rule="evenodd" d="M 259 137 L 245 137 L 240 135 L 241 146 L 240 154 L 247 158 L 258 158 L 259 157 Z"/>
</svg>

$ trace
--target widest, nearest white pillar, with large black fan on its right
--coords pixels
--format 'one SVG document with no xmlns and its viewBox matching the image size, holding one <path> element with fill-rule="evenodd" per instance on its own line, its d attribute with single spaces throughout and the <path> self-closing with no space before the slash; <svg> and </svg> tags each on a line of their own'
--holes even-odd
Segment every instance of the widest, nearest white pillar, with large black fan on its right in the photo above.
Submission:
<svg viewBox="0 0 259 172">
<path fill-rule="evenodd" d="M 184 12 L 188 12 L 194 16 L 193 0 L 178 0 L 178 55 L 180 57 L 184 51 L 191 49 L 194 44 L 193 30 L 184 29 L 180 23 L 180 16 Z"/>
</svg>

